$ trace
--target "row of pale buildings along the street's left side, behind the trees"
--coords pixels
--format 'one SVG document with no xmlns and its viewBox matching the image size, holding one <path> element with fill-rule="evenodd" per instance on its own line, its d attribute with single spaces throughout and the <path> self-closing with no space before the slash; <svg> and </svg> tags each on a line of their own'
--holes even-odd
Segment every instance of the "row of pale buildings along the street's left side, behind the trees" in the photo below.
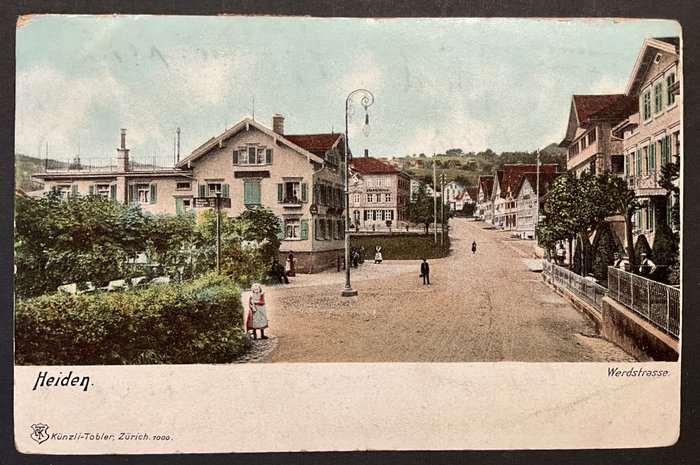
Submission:
<svg viewBox="0 0 700 465">
<path fill-rule="evenodd" d="M 284 117 L 275 115 L 272 129 L 246 118 L 170 168 L 130 161 L 122 129 L 114 166 L 62 166 L 34 178 L 45 192 L 102 195 L 155 214 L 196 211 L 196 198 L 217 195 L 230 200 L 222 209 L 229 215 L 269 208 L 279 219 L 281 258 L 293 251 L 297 269 L 314 272 L 343 254 L 344 160 L 343 134 L 288 135 Z M 406 224 L 411 182 L 406 173 L 367 153 L 351 161 L 351 172 L 351 229 Z"/>
</svg>

